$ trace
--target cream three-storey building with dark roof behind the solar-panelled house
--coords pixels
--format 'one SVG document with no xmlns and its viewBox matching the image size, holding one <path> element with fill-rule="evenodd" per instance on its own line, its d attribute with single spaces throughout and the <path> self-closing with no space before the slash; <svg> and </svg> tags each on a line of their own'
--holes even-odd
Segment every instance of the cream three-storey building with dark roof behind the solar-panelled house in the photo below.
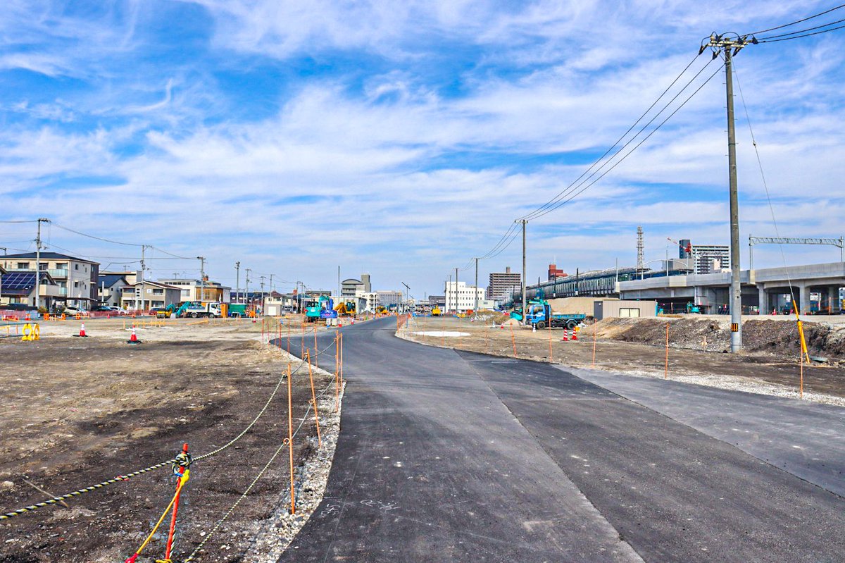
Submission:
<svg viewBox="0 0 845 563">
<path fill-rule="evenodd" d="M 0 260 L 3 261 L 3 268 L 9 272 L 35 271 L 35 252 L 6 254 L 0 256 Z M 54 305 L 73 305 L 80 309 L 90 309 L 97 303 L 97 282 L 100 274 L 98 262 L 57 252 L 42 252 L 38 270 L 49 273 L 57 284 L 57 295 L 44 295 L 52 298 L 51 303 Z"/>
</svg>

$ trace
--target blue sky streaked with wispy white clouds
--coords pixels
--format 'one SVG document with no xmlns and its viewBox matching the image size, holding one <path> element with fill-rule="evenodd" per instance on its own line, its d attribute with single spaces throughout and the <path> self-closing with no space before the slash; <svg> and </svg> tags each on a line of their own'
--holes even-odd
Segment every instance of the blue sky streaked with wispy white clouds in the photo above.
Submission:
<svg viewBox="0 0 845 563">
<path fill-rule="evenodd" d="M 231 284 L 236 260 L 282 290 L 334 287 L 340 265 L 422 297 L 578 178 L 711 31 L 832 5 L 6 0 L 0 221 L 45 216 L 201 254 Z M 782 236 L 845 231 L 843 57 L 845 30 L 736 57 Z M 529 223 L 529 280 L 552 260 L 565 271 L 633 264 L 637 225 L 646 260 L 664 256 L 667 237 L 727 243 L 724 105 L 717 74 L 619 167 Z M 744 115 L 738 99 L 747 241 L 774 228 Z M 0 223 L 0 246 L 31 249 L 32 231 Z M 132 247 L 57 228 L 47 238 L 137 267 Z M 838 258 L 785 252 L 789 264 Z M 163 257 L 153 276 L 199 271 Z M 520 263 L 516 241 L 480 277 Z M 755 249 L 755 265 L 781 264 L 776 247 Z"/>
</svg>

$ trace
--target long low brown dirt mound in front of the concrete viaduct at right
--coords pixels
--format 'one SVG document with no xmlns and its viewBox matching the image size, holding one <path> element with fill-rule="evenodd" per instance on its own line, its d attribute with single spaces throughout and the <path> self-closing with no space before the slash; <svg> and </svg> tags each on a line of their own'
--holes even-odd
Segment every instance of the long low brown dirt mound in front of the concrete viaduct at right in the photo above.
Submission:
<svg viewBox="0 0 845 563">
<path fill-rule="evenodd" d="M 730 324 L 711 318 L 605 319 L 585 329 L 598 338 L 663 346 L 669 326 L 669 347 L 724 352 L 730 347 Z M 804 336 L 811 356 L 845 361 L 845 326 L 805 322 Z M 745 320 L 743 345 L 749 353 L 797 357 L 801 349 L 798 327 L 786 320 Z"/>
</svg>

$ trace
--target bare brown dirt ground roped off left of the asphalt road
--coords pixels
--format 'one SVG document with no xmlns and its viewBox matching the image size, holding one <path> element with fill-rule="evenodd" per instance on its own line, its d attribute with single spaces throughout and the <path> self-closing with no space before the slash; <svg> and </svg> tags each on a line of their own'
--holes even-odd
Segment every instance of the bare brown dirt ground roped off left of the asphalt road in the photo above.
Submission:
<svg viewBox="0 0 845 563">
<path fill-rule="evenodd" d="M 128 327 L 134 323 L 146 327 L 138 330 L 143 343 L 130 346 Z M 174 319 L 159 324 L 86 320 L 89 336 L 81 338 L 74 336 L 79 320 L 42 322 L 39 341 L 0 339 L 0 512 L 171 459 L 183 442 L 194 456 L 212 451 L 254 419 L 288 364 L 299 363 L 261 342 L 260 320 Z M 299 320 L 288 320 L 288 325 L 300 333 Z M 288 325 L 282 326 L 284 332 Z M 304 341 L 313 354 L 311 330 L 309 326 L 308 337 L 301 337 L 297 346 Z M 334 372 L 334 348 L 319 363 Z M 336 437 L 338 415 L 331 415 L 332 421 L 329 413 L 335 406 L 334 380 L 332 374 L 314 372 L 318 392 L 330 387 L 319 401 L 326 411 L 320 413 L 324 434 Z M 296 425 L 311 402 L 307 367 L 292 377 L 292 386 Z M 210 533 L 287 432 L 285 381 L 253 429 L 191 467 L 179 507 L 174 560 L 183 560 Z M 294 440 L 297 475 L 302 477 L 299 466 L 305 461 L 328 456 L 330 462 L 333 449 L 317 452 L 316 445 L 311 416 Z M 292 534 L 280 528 L 297 527 L 303 519 L 279 517 L 286 514 L 290 498 L 287 461 L 285 449 L 205 544 L 198 560 L 271 560 L 271 553 L 281 553 L 286 544 L 282 536 Z M 46 506 L 0 522 L 0 561 L 124 560 L 150 532 L 174 488 L 167 466 L 74 497 L 66 501 L 68 507 Z M 311 492 L 297 495 L 304 498 Z M 319 498 L 313 506 L 317 502 Z M 168 523 L 169 517 L 139 561 L 163 557 Z M 274 535 L 279 538 L 268 545 L 268 536 Z M 264 544 L 257 546 L 259 536 Z"/>
</svg>

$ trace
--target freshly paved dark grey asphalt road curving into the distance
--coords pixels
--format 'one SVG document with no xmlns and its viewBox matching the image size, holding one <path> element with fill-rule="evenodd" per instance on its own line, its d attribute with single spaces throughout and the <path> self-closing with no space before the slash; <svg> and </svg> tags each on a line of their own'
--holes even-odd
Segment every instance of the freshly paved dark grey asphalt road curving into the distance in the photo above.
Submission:
<svg viewBox="0 0 845 563">
<path fill-rule="evenodd" d="M 766 462 L 786 454 L 767 448 L 755 396 L 730 397 L 731 421 L 748 402 L 765 440 L 734 445 L 701 409 L 646 405 L 647 390 L 626 391 L 644 393 L 633 402 L 549 364 L 394 331 L 392 318 L 343 329 L 335 462 L 281 561 L 843 560 L 845 500 L 830 485 L 842 448 L 813 454 L 821 472 Z M 680 395 L 697 402 L 693 387 Z M 801 424 L 841 427 L 842 409 L 783 418 L 772 426 L 802 447 Z"/>
</svg>

